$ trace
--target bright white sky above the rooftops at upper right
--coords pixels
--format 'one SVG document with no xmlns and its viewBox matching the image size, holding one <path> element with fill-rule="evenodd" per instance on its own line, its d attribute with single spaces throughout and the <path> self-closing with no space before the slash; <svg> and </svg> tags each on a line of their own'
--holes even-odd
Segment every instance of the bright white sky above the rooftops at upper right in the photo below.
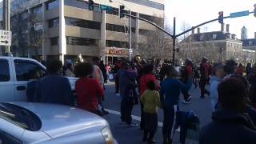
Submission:
<svg viewBox="0 0 256 144">
<path fill-rule="evenodd" d="M 176 17 L 178 33 L 182 32 L 182 22 L 196 26 L 210 19 L 218 18 L 218 11 L 224 11 L 224 16 L 230 13 L 254 10 L 255 0 L 166 0 L 167 22 L 172 26 L 173 18 Z M 230 33 L 241 37 L 242 26 L 248 29 L 248 38 L 254 38 L 256 32 L 256 18 L 253 14 L 242 18 L 226 18 L 225 24 L 230 24 Z M 202 31 L 220 30 L 218 22 L 212 22 L 201 27 Z"/>
</svg>

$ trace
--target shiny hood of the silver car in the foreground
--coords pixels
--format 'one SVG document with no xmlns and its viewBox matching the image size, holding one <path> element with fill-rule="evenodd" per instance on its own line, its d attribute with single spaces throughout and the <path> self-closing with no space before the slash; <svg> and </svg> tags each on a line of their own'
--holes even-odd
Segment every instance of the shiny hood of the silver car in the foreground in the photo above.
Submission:
<svg viewBox="0 0 256 144">
<path fill-rule="evenodd" d="M 81 131 L 101 131 L 108 122 L 95 114 L 75 107 L 46 103 L 12 102 L 36 114 L 41 122 L 41 131 L 51 138 Z"/>
</svg>

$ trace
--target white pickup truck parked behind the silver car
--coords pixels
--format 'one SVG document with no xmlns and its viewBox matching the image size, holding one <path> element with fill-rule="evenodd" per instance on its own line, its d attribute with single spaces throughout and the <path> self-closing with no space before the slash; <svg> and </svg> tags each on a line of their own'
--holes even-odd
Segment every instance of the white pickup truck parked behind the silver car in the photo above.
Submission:
<svg viewBox="0 0 256 144">
<path fill-rule="evenodd" d="M 26 84 L 30 79 L 30 70 L 36 69 L 42 75 L 46 67 L 31 58 L 0 57 L 0 102 L 26 101 Z M 74 90 L 77 78 L 70 78 Z"/>
</svg>

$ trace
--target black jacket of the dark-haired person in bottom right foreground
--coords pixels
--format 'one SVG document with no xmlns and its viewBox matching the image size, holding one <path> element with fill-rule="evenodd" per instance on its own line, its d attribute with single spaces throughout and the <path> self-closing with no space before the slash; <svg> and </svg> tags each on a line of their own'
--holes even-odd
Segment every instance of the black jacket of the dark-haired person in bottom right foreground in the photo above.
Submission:
<svg viewBox="0 0 256 144">
<path fill-rule="evenodd" d="M 255 144 L 256 128 L 248 114 L 216 111 L 200 132 L 199 144 Z"/>
</svg>

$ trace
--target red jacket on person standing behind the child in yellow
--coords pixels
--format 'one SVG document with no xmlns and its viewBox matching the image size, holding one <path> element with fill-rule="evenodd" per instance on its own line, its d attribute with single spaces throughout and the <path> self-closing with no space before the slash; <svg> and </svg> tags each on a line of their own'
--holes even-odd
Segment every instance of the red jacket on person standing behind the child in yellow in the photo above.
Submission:
<svg viewBox="0 0 256 144">
<path fill-rule="evenodd" d="M 158 86 L 158 82 L 157 82 L 157 79 L 154 78 L 154 75 L 153 74 L 144 74 L 142 75 L 142 78 L 139 80 L 139 86 L 140 86 L 140 90 L 139 90 L 139 95 L 141 96 L 145 90 L 147 90 L 147 82 L 150 82 L 150 81 L 153 81 L 155 86 L 157 87 L 157 90 L 159 89 L 159 86 Z"/>
</svg>

